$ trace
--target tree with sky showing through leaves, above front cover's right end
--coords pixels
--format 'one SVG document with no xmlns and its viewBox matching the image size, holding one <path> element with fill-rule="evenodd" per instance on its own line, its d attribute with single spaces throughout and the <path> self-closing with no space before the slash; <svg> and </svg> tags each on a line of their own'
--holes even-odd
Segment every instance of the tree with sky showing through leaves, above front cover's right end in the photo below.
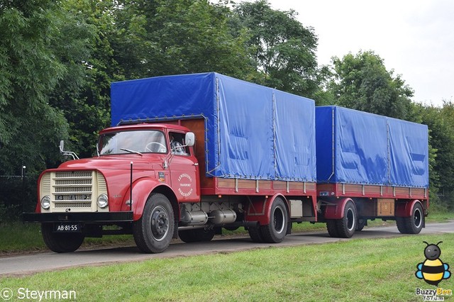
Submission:
<svg viewBox="0 0 454 302">
<path fill-rule="evenodd" d="M 266 0 L 242 2 L 233 28 L 247 28 L 248 49 L 261 74 L 256 82 L 301 96 L 314 97 L 321 77 L 313 28 L 297 21 L 295 11 L 273 10 Z"/>
</svg>

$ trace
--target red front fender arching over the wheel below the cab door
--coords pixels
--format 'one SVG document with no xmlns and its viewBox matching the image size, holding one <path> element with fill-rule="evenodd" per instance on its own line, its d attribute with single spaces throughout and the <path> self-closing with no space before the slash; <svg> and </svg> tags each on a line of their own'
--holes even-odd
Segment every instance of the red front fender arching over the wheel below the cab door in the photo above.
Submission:
<svg viewBox="0 0 454 302">
<path fill-rule="evenodd" d="M 148 200 L 148 196 L 157 186 L 167 186 L 170 190 L 170 186 L 164 184 L 156 179 L 137 179 L 133 183 L 133 220 L 139 220 L 142 217 L 143 208 L 145 208 L 145 203 Z M 126 201 L 129 200 L 131 196 L 131 190 L 126 191 L 125 198 L 123 199 L 123 205 L 121 206 L 121 211 L 130 211 L 129 204 L 126 204 Z"/>
</svg>

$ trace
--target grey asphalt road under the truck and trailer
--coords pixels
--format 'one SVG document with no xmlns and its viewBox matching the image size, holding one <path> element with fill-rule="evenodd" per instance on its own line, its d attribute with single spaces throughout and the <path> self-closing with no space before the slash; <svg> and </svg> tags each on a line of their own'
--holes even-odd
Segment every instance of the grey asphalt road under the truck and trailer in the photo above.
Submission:
<svg viewBox="0 0 454 302">
<path fill-rule="evenodd" d="M 423 228 L 419 235 L 421 241 L 424 235 L 432 233 L 454 233 L 454 222 L 431 223 Z M 78 250 L 73 253 L 57 254 L 54 252 L 40 252 L 26 255 L 0 257 L 0 276 L 24 275 L 35 272 L 81 267 L 87 265 L 113 264 L 118 262 L 142 261 L 146 259 L 179 257 L 190 255 L 205 255 L 216 252 L 237 252 L 265 247 L 287 247 L 294 245 L 320 244 L 355 238 L 377 238 L 403 236 L 395 226 L 365 228 L 355 233 L 352 239 L 331 238 L 326 231 L 316 233 L 295 233 L 287 235 L 279 244 L 258 244 L 251 242 L 249 237 L 215 237 L 211 242 L 183 243 L 172 242 L 170 247 L 161 254 L 140 254 L 137 247 L 116 247 L 100 250 Z"/>
</svg>

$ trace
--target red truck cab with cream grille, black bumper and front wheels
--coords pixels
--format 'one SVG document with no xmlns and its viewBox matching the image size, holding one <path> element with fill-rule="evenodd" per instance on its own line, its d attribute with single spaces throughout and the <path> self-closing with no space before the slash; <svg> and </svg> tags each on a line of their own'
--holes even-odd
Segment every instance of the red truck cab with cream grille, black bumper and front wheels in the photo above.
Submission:
<svg viewBox="0 0 454 302">
<path fill-rule="evenodd" d="M 135 234 L 136 240 L 145 252 L 162 252 L 175 236 L 178 204 L 200 200 L 193 145 L 194 134 L 181 125 L 106 128 L 99 135 L 98 156 L 64 162 L 40 175 L 40 202 L 35 213 L 24 213 L 24 220 L 42 223 L 51 250 L 72 252 L 84 237 L 134 233 L 134 221 L 143 222 L 147 211 L 144 223 L 162 244 L 150 249 L 154 244 L 144 242 L 147 234 Z M 159 199 L 159 206 L 145 209 L 148 198 Z M 116 228 L 106 230 L 106 225 Z"/>
</svg>

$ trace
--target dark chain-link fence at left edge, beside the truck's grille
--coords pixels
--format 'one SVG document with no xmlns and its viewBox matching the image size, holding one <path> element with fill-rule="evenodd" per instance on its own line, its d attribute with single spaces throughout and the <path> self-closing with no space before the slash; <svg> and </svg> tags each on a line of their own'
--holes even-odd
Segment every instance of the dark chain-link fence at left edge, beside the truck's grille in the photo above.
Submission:
<svg viewBox="0 0 454 302">
<path fill-rule="evenodd" d="M 20 220 L 21 213 L 35 211 L 38 176 L 0 175 L 0 223 Z"/>
</svg>

